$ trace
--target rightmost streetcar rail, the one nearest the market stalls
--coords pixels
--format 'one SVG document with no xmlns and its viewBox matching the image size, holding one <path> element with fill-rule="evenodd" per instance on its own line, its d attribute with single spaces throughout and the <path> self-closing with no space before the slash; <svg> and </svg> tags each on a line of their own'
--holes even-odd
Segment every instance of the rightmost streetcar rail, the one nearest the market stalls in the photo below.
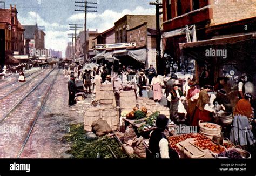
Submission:
<svg viewBox="0 0 256 176">
<path fill-rule="evenodd" d="M 59 71 L 60 71 L 60 70 L 59 70 Z M 39 116 L 40 116 L 40 114 L 41 114 L 41 112 L 42 112 L 42 110 L 43 110 L 43 108 L 44 108 L 44 105 L 45 105 L 46 101 L 47 101 L 48 98 L 49 98 L 49 95 L 50 95 L 50 93 L 51 93 L 52 87 L 53 87 L 53 85 L 55 85 L 55 82 L 56 82 L 56 79 L 57 79 L 57 77 L 58 77 L 59 71 L 57 72 L 55 78 L 53 79 L 52 84 L 51 84 L 51 86 L 49 87 L 48 91 L 46 91 L 46 96 L 45 96 L 45 98 L 44 98 L 44 100 L 43 100 L 43 104 L 41 105 L 40 109 L 37 111 L 36 117 L 35 117 L 35 119 L 33 120 L 33 124 L 32 124 L 32 126 L 31 126 L 31 128 L 30 128 L 30 130 L 29 130 L 29 133 L 28 133 L 28 135 L 26 136 L 26 139 L 24 140 L 24 142 L 23 142 L 23 144 L 22 144 L 21 150 L 19 150 L 19 153 L 18 153 L 17 158 L 20 158 L 20 157 L 21 157 L 22 152 L 24 151 L 24 148 L 25 148 L 25 146 L 26 146 L 26 143 L 28 143 L 28 140 L 29 140 L 29 138 L 30 138 L 30 136 L 31 136 L 31 133 L 32 133 L 32 131 L 33 131 L 33 128 L 35 127 L 36 122 L 37 122 L 37 120 L 38 120 L 38 118 L 39 118 Z"/>
</svg>

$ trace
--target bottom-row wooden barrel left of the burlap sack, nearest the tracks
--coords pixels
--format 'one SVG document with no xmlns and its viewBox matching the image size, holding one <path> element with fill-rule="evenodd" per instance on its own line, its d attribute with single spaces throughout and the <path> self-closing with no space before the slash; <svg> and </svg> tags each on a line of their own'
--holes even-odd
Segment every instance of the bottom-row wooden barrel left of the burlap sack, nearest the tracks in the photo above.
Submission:
<svg viewBox="0 0 256 176">
<path fill-rule="evenodd" d="M 92 131 L 92 123 L 100 118 L 100 110 L 97 107 L 89 107 L 85 110 L 84 130 Z"/>
</svg>

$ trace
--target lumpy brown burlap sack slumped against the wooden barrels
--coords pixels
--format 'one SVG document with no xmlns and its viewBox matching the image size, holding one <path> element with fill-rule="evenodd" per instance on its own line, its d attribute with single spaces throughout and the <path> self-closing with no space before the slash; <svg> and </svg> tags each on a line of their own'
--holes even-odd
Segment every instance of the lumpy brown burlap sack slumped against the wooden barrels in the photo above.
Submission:
<svg viewBox="0 0 256 176">
<path fill-rule="evenodd" d="M 112 133 L 113 131 L 109 124 L 107 124 L 107 121 L 99 119 L 93 121 L 92 132 L 95 133 L 97 136 L 105 136 L 109 133 Z"/>
</svg>

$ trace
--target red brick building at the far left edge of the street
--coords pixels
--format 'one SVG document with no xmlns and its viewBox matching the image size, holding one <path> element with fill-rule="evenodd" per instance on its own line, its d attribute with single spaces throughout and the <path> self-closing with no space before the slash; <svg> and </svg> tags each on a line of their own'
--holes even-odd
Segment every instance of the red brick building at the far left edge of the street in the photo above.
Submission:
<svg viewBox="0 0 256 176">
<path fill-rule="evenodd" d="M 17 64 L 18 61 L 12 55 L 24 54 L 24 28 L 17 18 L 16 5 L 10 5 L 10 9 L 0 9 L 0 64 Z"/>
</svg>

